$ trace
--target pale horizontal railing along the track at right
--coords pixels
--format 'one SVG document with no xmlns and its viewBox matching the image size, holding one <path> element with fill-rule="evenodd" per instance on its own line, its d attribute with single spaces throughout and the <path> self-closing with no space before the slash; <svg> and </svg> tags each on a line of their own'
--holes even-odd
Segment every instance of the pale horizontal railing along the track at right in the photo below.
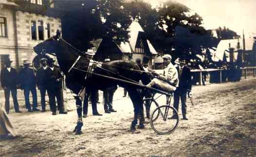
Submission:
<svg viewBox="0 0 256 157">
<path fill-rule="evenodd" d="M 250 77 L 253 77 L 255 78 L 256 77 L 256 67 L 244 67 L 241 70 L 241 79 L 246 79 L 246 78 L 250 78 Z M 212 72 L 219 72 L 219 76 L 218 76 L 218 80 L 219 80 L 219 83 L 222 82 L 222 74 L 224 72 L 228 72 L 230 70 L 225 70 L 225 69 L 192 69 L 191 72 L 192 73 L 200 73 L 200 77 L 199 77 L 199 85 L 202 85 L 202 73 L 203 72 L 208 72 L 210 73 L 210 75 L 213 75 Z M 211 76 L 210 76 L 211 77 Z"/>
</svg>

